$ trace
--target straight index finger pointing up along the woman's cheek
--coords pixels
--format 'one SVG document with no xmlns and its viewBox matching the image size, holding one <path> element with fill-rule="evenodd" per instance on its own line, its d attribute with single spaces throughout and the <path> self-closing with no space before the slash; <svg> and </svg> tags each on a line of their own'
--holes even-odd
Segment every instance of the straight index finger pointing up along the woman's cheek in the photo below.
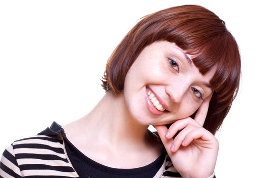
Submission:
<svg viewBox="0 0 267 178">
<path fill-rule="evenodd" d="M 210 95 L 203 101 L 203 103 L 200 105 L 195 115 L 194 120 L 198 122 L 200 126 L 204 125 L 205 118 L 207 115 L 207 110 L 209 110 L 209 104 L 210 104 L 211 98 L 212 98 L 212 95 Z"/>
</svg>

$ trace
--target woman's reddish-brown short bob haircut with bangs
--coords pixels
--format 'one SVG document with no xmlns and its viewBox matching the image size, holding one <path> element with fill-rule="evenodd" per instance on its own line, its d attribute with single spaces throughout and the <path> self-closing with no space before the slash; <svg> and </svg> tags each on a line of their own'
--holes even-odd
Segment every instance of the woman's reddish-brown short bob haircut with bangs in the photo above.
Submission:
<svg viewBox="0 0 267 178">
<path fill-rule="evenodd" d="M 163 40 L 193 54 L 192 61 L 202 75 L 216 67 L 210 81 L 214 93 L 203 126 L 215 134 L 238 93 L 241 60 L 225 22 L 201 6 L 177 6 L 141 18 L 111 54 L 102 78 L 104 90 L 123 93 L 125 76 L 140 52 Z"/>
</svg>

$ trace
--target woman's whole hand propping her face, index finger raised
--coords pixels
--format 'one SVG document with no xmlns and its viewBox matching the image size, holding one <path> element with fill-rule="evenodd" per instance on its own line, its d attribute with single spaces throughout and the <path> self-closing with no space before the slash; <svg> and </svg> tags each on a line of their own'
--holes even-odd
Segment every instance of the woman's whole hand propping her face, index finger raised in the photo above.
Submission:
<svg viewBox="0 0 267 178">
<path fill-rule="evenodd" d="M 169 129 L 165 125 L 155 126 L 173 166 L 183 177 L 207 178 L 214 172 L 219 142 L 202 127 L 210 98 L 203 101 L 194 120 L 178 120 Z M 177 131 L 180 133 L 173 139 Z"/>
</svg>

